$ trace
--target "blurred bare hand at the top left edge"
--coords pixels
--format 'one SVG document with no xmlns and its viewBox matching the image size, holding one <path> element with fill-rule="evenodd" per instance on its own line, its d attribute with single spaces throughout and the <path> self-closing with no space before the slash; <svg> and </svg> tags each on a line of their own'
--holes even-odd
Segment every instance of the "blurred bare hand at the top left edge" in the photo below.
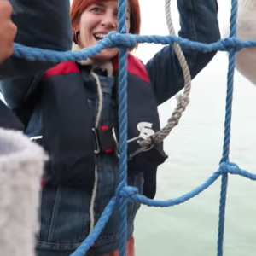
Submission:
<svg viewBox="0 0 256 256">
<path fill-rule="evenodd" d="M 6 0 L 0 0 L 0 64 L 14 51 L 17 27 L 11 20 L 11 14 L 11 4 Z"/>
</svg>

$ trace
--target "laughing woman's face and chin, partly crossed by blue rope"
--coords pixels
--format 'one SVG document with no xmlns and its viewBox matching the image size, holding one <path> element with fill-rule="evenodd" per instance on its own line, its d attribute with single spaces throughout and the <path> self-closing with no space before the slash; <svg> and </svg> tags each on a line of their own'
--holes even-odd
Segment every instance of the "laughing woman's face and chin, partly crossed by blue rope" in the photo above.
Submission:
<svg viewBox="0 0 256 256">
<path fill-rule="evenodd" d="M 127 6 L 126 29 L 130 31 L 130 7 Z M 81 15 L 79 22 L 79 46 L 90 47 L 104 38 L 108 32 L 118 31 L 118 1 L 97 1 L 91 4 Z M 98 55 L 91 58 L 110 60 L 119 52 L 118 48 L 103 49 Z"/>
</svg>

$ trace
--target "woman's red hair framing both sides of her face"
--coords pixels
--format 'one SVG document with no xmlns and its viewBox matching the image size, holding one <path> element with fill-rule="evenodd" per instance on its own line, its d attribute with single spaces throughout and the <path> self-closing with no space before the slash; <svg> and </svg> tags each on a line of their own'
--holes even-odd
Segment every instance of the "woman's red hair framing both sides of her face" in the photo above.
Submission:
<svg viewBox="0 0 256 256">
<path fill-rule="evenodd" d="M 108 0 L 107 0 L 108 1 Z M 118 0 L 116 0 L 118 1 Z M 128 0 L 130 3 L 131 16 L 130 16 L 130 33 L 139 34 L 141 30 L 141 13 L 138 0 Z M 97 3 L 99 0 L 73 0 L 70 9 L 70 18 L 73 27 L 73 39 L 75 36 L 75 27 L 79 25 L 81 15 L 84 10 L 87 9 L 91 4 Z"/>
</svg>

